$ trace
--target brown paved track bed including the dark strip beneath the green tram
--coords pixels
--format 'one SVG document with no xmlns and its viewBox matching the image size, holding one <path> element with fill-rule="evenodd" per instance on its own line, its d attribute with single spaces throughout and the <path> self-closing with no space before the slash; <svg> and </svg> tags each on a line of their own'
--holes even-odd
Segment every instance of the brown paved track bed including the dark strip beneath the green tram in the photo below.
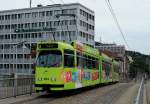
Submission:
<svg viewBox="0 0 150 104">
<path fill-rule="evenodd" d="M 42 94 L 33 99 L 11 104 L 115 104 L 112 102 L 117 100 L 116 97 L 119 98 L 130 86 L 131 83 L 117 83 L 71 93 Z"/>
</svg>

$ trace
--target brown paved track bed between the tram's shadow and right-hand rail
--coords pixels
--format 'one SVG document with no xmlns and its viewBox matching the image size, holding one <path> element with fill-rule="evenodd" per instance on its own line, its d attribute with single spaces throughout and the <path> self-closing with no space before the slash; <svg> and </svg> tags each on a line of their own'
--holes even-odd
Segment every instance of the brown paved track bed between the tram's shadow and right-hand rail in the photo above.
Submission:
<svg viewBox="0 0 150 104">
<path fill-rule="evenodd" d="M 129 86 L 131 84 L 104 86 L 44 104 L 115 104 L 115 97 L 119 97 Z"/>
</svg>

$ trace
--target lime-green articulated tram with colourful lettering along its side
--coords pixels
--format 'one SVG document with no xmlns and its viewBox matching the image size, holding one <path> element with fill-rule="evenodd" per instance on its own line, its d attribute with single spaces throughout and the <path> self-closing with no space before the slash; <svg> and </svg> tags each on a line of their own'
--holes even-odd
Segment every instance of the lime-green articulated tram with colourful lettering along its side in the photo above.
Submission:
<svg viewBox="0 0 150 104">
<path fill-rule="evenodd" d="M 119 81 L 117 61 L 79 42 L 37 45 L 35 89 L 62 91 Z"/>
</svg>

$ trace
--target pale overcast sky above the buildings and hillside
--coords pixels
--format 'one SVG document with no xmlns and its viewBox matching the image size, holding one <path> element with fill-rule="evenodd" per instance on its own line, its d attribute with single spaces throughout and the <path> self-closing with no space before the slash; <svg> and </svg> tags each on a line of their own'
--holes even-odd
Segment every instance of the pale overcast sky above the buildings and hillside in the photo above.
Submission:
<svg viewBox="0 0 150 104">
<path fill-rule="evenodd" d="M 95 12 L 95 39 L 125 45 L 105 0 L 53 0 L 55 3 L 79 2 Z M 130 46 L 129 50 L 150 53 L 150 0 L 110 0 Z M 49 5 L 51 0 L 33 0 L 33 5 Z M 27 8 L 29 0 L 0 0 L 0 10 Z"/>
</svg>

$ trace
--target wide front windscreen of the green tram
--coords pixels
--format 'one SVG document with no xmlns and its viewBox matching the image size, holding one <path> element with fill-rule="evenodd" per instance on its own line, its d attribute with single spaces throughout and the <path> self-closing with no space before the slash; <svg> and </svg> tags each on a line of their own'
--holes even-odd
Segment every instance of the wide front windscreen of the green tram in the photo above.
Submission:
<svg viewBox="0 0 150 104">
<path fill-rule="evenodd" d="M 39 53 L 36 65 L 40 67 L 60 67 L 62 65 L 61 51 L 41 51 Z"/>
</svg>

